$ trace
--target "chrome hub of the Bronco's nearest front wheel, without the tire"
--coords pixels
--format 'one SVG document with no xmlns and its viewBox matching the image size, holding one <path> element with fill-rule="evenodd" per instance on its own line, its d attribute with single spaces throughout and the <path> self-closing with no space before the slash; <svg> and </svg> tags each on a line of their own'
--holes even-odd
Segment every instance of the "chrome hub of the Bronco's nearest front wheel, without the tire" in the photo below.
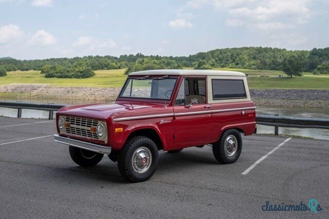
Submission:
<svg viewBox="0 0 329 219">
<path fill-rule="evenodd" d="M 147 147 L 137 148 L 133 154 L 132 166 L 136 173 L 148 171 L 152 164 L 152 153 Z"/>
</svg>

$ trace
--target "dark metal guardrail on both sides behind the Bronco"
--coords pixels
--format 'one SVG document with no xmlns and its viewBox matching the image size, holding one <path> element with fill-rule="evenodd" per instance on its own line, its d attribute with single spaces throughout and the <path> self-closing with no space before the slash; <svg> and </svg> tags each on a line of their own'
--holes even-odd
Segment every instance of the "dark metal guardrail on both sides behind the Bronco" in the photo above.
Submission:
<svg viewBox="0 0 329 219">
<path fill-rule="evenodd" d="M 3 102 L 0 101 L 0 107 L 17 109 L 17 117 L 22 116 L 22 109 L 35 109 L 49 111 L 49 120 L 53 119 L 53 111 L 57 111 L 66 105 L 60 104 L 34 104 L 25 102 Z M 316 128 L 329 129 L 328 118 L 306 118 L 279 115 L 257 115 L 256 123 L 258 125 L 274 126 L 275 134 L 279 134 L 279 127 L 289 128 Z"/>
</svg>

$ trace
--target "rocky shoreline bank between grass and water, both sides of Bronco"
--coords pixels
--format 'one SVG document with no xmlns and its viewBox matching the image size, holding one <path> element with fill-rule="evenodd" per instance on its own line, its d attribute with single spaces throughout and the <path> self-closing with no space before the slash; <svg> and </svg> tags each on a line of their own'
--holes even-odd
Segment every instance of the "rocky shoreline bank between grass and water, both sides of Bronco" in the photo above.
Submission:
<svg viewBox="0 0 329 219">
<path fill-rule="evenodd" d="M 0 86 L 0 97 L 29 99 L 86 99 L 113 101 L 120 88 L 53 87 L 11 84 Z M 329 108 L 329 90 L 250 89 L 256 106 Z"/>
</svg>

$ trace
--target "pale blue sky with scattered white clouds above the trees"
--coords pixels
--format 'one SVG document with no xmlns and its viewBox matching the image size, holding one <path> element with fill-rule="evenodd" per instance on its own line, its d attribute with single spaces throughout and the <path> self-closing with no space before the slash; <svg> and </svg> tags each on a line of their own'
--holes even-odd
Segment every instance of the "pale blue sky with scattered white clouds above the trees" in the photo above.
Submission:
<svg viewBox="0 0 329 219">
<path fill-rule="evenodd" d="M 0 57 L 329 47 L 328 0 L 0 0 Z"/>
</svg>

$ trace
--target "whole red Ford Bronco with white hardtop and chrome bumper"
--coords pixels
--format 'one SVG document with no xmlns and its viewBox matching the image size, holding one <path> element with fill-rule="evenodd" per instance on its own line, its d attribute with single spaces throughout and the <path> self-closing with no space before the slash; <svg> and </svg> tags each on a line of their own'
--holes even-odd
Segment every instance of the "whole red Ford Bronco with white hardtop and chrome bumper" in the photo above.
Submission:
<svg viewBox="0 0 329 219">
<path fill-rule="evenodd" d="M 104 154 L 132 182 L 148 180 L 158 151 L 212 145 L 216 160 L 234 163 L 241 133 L 255 131 L 246 75 L 233 71 L 151 70 L 129 74 L 114 104 L 68 106 L 56 113 L 54 141 L 80 166 Z"/>
</svg>

